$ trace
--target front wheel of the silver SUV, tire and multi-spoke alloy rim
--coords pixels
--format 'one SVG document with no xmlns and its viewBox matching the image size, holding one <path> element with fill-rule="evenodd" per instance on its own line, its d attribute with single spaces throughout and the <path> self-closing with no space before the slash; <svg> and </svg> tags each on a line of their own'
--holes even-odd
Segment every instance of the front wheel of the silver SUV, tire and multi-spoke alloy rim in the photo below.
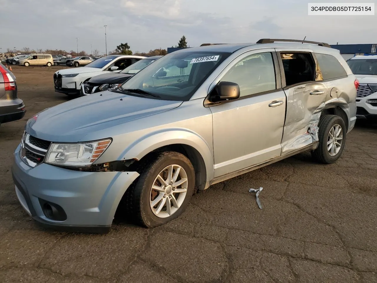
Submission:
<svg viewBox="0 0 377 283">
<path fill-rule="evenodd" d="M 195 171 L 190 160 L 178 152 L 161 152 L 148 163 L 127 189 L 124 208 L 138 225 L 152 228 L 184 212 L 194 193 Z"/>
</svg>

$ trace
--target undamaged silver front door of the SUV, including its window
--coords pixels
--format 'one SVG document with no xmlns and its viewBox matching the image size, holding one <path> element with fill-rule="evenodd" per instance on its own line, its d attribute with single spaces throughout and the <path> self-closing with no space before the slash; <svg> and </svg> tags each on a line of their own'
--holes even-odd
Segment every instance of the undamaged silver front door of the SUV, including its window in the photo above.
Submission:
<svg viewBox="0 0 377 283">
<path fill-rule="evenodd" d="M 220 74 L 241 95 L 210 106 L 215 177 L 281 155 L 286 98 L 278 66 L 274 49 L 263 49 L 240 55 Z"/>
</svg>

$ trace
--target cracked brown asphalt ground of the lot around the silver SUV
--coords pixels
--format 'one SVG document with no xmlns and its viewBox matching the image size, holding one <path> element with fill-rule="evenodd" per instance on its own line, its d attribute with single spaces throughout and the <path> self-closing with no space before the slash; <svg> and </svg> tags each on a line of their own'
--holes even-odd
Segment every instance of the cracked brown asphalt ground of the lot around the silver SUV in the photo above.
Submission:
<svg viewBox="0 0 377 283">
<path fill-rule="evenodd" d="M 0 282 L 377 282 L 377 125 L 367 122 L 336 163 L 304 153 L 224 181 L 155 229 L 120 220 L 107 235 L 39 228 L 10 167 L 26 120 L 66 101 L 54 92 L 56 70 L 14 67 L 28 112 L 0 127 Z M 248 192 L 259 186 L 263 210 Z"/>
</svg>

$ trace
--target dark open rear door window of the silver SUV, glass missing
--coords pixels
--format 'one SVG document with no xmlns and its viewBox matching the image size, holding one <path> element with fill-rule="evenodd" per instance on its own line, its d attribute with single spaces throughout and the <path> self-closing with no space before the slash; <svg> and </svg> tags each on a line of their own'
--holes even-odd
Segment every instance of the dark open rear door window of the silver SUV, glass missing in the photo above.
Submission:
<svg viewBox="0 0 377 283">
<path fill-rule="evenodd" d="M 310 53 L 280 53 L 284 66 L 285 84 L 312 82 L 315 80 L 315 63 Z"/>
</svg>

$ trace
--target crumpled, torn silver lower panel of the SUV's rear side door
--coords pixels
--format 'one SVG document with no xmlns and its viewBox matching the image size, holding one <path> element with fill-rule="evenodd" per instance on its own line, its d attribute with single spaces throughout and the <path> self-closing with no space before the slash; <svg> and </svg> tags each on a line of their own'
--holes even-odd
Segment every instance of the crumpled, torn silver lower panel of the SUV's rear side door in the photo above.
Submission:
<svg viewBox="0 0 377 283">
<path fill-rule="evenodd" d="M 321 95 L 311 95 L 314 90 L 325 91 Z M 310 83 L 285 91 L 287 95 L 287 115 L 282 138 L 282 155 L 303 148 L 318 138 L 318 123 L 321 111 L 325 108 L 327 86 L 325 83 Z"/>
</svg>

